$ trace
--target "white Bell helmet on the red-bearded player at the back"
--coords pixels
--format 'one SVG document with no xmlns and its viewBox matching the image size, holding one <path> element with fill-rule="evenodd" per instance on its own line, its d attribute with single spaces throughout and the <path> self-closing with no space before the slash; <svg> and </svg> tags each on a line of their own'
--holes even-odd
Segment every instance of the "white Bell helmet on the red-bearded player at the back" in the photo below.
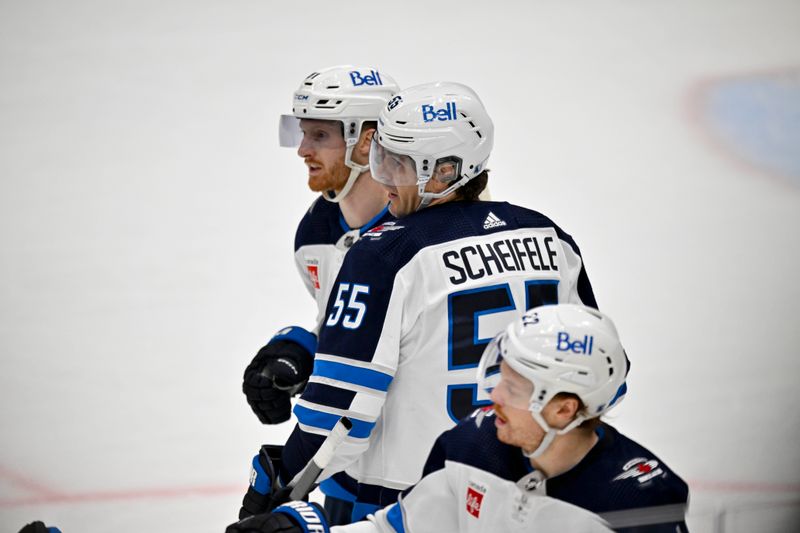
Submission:
<svg viewBox="0 0 800 533">
<path fill-rule="evenodd" d="M 364 122 L 377 120 L 386 102 L 399 90 L 391 76 L 376 68 L 342 65 L 311 73 L 295 91 L 292 114 L 281 116 L 281 146 L 300 146 L 303 140 L 300 119 L 336 120 L 342 123 L 346 146 L 344 162 L 350 168 L 350 177 L 339 194 L 333 191 L 324 194 L 327 200 L 340 201 L 358 176 L 369 170 L 369 166 L 353 162 L 353 148 Z"/>
</svg>

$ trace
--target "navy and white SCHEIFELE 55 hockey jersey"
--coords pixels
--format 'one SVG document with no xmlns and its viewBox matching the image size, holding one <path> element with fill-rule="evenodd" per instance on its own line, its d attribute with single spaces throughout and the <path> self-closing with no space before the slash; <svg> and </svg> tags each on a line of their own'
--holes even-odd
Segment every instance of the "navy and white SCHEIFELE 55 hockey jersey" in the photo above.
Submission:
<svg viewBox="0 0 800 533">
<path fill-rule="evenodd" d="M 556 302 L 597 305 L 578 247 L 535 211 L 449 202 L 365 233 L 332 287 L 284 474 L 347 415 L 354 427 L 323 478 L 355 480 L 354 518 L 396 501 L 436 437 L 488 403 L 475 372 L 489 340 Z"/>
</svg>

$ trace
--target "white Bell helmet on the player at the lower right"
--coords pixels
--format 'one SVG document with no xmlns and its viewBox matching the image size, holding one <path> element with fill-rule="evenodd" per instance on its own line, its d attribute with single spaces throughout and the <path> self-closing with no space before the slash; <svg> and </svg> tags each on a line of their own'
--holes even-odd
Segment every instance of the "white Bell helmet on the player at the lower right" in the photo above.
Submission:
<svg viewBox="0 0 800 533">
<path fill-rule="evenodd" d="M 624 398 L 627 357 L 614 323 L 606 315 L 577 304 L 556 304 L 527 311 L 486 347 L 478 367 L 480 386 L 487 391 L 500 381 L 500 363 L 533 383 L 533 393 L 520 398 L 546 432 L 531 457 L 541 455 L 556 435 L 571 431 L 584 420 L 598 417 Z M 584 411 L 561 430 L 542 417 L 558 393 L 572 393 Z M 526 405 L 527 404 L 527 405 Z"/>
</svg>

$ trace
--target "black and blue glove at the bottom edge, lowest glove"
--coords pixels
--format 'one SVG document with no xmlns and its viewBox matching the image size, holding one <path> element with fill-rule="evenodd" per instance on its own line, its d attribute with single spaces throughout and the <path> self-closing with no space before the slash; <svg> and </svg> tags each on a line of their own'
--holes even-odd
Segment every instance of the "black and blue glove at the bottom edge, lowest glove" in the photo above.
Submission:
<svg viewBox="0 0 800 533">
<path fill-rule="evenodd" d="M 272 513 L 250 516 L 225 529 L 225 533 L 329 533 L 325 511 L 316 503 L 289 502 Z"/>
</svg>

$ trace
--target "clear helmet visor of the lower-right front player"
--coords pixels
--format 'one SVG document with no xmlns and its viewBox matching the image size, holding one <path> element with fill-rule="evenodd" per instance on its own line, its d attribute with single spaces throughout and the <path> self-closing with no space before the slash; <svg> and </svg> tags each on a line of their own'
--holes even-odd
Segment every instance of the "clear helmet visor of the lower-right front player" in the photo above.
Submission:
<svg viewBox="0 0 800 533">
<path fill-rule="evenodd" d="M 478 365 L 478 387 L 492 394 L 496 403 L 517 409 L 528 409 L 533 396 L 533 383 L 515 371 L 503 358 L 506 333 L 489 343 Z"/>
</svg>

